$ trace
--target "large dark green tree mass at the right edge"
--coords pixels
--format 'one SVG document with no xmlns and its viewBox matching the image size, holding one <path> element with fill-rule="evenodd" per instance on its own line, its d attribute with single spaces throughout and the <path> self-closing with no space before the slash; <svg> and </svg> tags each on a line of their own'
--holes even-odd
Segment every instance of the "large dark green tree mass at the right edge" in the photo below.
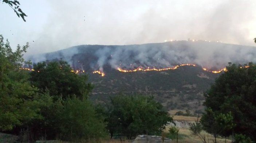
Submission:
<svg viewBox="0 0 256 143">
<path fill-rule="evenodd" d="M 233 143 L 256 141 L 256 64 L 229 63 L 212 87 L 204 94 L 206 109 L 190 130 L 203 143 L 202 130 Z"/>
</svg>

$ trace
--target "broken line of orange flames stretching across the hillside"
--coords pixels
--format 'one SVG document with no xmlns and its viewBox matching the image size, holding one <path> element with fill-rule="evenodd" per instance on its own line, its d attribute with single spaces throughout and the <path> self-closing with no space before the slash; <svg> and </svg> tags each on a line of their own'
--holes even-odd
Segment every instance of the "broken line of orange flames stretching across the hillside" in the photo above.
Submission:
<svg viewBox="0 0 256 143">
<path fill-rule="evenodd" d="M 168 68 L 142 68 L 142 67 L 138 67 L 138 68 L 135 68 L 134 70 L 124 70 L 120 67 L 117 68 L 118 71 L 120 72 L 136 72 L 136 71 L 164 71 L 164 70 L 175 70 L 177 69 L 178 67 L 181 67 L 181 66 L 193 66 L 195 67 L 196 64 L 180 64 L 180 65 L 176 65 L 174 67 L 168 67 Z M 245 68 L 248 68 L 249 66 L 244 66 Z M 60 67 L 61 68 L 61 67 Z M 242 67 L 240 67 L 242 68 Z M 220 73 L 222 71 L 227 71 L 227 68 L 222 68 L 221 70 L 218 70 L 218 71 L 211 71 L 211 70 L 207 70 L 206 68 L 202 68 L 204 71 L 208 71 L 208 72 L 212 72 L 212 73 Z M 31 69 L 31 68 L 20 68 L 20 70 L 28 70 L 28 71 L 35 71 L 34 69 Z M 37 71 L 37 72 L 40 72 L 40 71 Z M 84 73 L 84 70 L 71 70 L 70 72 L 74 72 L 74 73 Z M 102 71 L 93 71 L 92 73 L 98 73 L 100 74 L 101 76 L 105 76 L 105 73 L 102 72 Z"/>
</svg>

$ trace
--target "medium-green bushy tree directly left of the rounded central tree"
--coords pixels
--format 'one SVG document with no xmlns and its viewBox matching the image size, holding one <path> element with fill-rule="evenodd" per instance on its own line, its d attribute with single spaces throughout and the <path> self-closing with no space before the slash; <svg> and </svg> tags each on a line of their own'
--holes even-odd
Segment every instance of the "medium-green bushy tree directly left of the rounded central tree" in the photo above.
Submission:
<svg viewBox="0 0 256 143">
<path fill-rule="evenodd" d="M 103 118 L 99 118 L 88 99 L 68 98 L 59 114 L 60 138 L 78 141 L 99 139 L 106 135 Z"/>
</svg>

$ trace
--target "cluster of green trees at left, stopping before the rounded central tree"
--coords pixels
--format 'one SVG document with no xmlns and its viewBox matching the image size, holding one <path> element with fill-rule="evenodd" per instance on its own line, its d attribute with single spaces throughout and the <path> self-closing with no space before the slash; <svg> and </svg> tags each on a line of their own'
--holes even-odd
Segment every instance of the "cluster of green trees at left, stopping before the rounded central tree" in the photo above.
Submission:
<svg viewBox="0 0 256 143">
<path fill-rule="evenodd" d="M 27 63 L 27 45 L 12 51 L 0 35 L 0 130 L 29 130 L 29 140 L 98 139 L 106 135 L 103 117 L 89 101 L 92 85 L 86 75 L 71 72 L 63 61 L 35 64 L 35 71 L 21 70 Z"/>
</svg>

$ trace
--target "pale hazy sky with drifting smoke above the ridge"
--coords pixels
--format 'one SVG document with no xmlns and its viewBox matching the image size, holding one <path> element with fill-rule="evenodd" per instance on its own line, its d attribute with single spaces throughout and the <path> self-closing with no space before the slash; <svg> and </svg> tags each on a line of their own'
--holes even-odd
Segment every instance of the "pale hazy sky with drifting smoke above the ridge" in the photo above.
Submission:
<svg viewBox="0 0 256 143">
<path fill-rule="evenodd" d="M 19 1 L 27 22 L 1 3 L 0 34 L 30 54 L 187 38 L 255 46 L 256 0 Z"/>
</svg>

